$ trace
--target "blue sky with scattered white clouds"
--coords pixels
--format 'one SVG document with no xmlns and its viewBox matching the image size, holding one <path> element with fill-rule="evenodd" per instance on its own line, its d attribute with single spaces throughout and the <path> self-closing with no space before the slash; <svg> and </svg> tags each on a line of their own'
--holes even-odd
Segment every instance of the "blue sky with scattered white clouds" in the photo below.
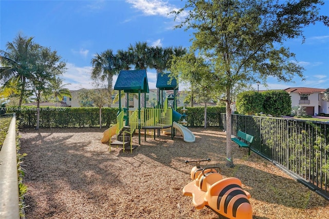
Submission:
<svg viewBox="0 0 329 219">
<path fill-rule="evenodd" d="M 320 13 L 329 14 L 329 0 Z M 62 78 L 69 89 L 90 88 L 90 60 L 95 53 L 106 49 L 116 52 L 135 42 L 149 45 L 191 45 L 191 32 L 173 29 L 174 17 L 168 15 L 181 8 L 184 1 L 0 1 L 0 48 L 12 42 L 21 32 L 34 36 L 34 42 L 57 50 L 67 62 Z M 304 29 L 306 42 L 293 39 L 285 46 L 296 53 L 297 61 L 305 68 L 306 80 L 295 83 L 278 82 L 269 78 L 268 88 L 329 87 L 329 28 L 317 23 Z M 148 70 L 149 87 L 155 88 L 155 69 Z M 115 80 L 116 78 L 114 78 Z M 257 84 L 253 87 L 257 89 Z M 180 87 L 180 90 L 182 86 Z"/>
</svg>

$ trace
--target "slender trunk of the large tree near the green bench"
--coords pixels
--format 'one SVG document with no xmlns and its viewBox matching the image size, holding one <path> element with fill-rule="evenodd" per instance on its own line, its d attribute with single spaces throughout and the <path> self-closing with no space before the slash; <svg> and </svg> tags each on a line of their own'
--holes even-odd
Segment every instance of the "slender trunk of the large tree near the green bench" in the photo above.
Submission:
<svg viewBox="0 0 329 219">
<path fill-rule="evenodd" d="M 226 88 L 226 167 L 234 167 L 232 156 L 231 90 Z"/>
</svg>

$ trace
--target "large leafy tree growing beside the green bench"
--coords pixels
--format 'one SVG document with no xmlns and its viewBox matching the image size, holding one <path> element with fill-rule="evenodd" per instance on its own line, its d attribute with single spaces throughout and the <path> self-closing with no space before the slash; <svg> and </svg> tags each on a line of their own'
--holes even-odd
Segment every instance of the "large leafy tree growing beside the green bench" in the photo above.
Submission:
<svg viewBox="0 0 329 219">
<path fill-rule="evenodd" d="M 225 90 L 226 165 L 233 167 L 231 141 L 231 93 L 236 84 L 248 85 L 275 77 L 288 82 L 303 77 L 303 68 L 295 54 L 283 46 L 287 39 L 303 36 L 303 28 L 316 21 L 329 24 L 327 16 L 318 14 L 320 0 L 254 1 L 188 0 L 188 16 L 176 28 L 193 29 L 192 52 L 210 60 L 217 87 Z"/>
</svg>

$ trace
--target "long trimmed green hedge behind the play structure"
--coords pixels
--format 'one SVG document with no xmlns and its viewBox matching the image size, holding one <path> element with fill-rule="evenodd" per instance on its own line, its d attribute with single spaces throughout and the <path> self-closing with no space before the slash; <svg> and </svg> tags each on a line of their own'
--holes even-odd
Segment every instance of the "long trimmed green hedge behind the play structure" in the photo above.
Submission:
<svg viewBox="0 0 329 219">
<path fill-rule="evenodd" d="M 182 107 L 177 112 L 182 114 Z M 102 108 L 102 126 L 116 123 L 118 108 Z M 16 113 L 19 127 L 35 127 L 36 107 L 9 107 L 7 113 Z M 204 107 L 187 107 L 185 120 L 187 126 L 204 126 Z M 220 114 L 225 113 L 225 106 L 207 107 L 207 126 L 218 126 Z M 98 107 L 40 107 L 40 127 L 99 127 Z"/>
</svg>

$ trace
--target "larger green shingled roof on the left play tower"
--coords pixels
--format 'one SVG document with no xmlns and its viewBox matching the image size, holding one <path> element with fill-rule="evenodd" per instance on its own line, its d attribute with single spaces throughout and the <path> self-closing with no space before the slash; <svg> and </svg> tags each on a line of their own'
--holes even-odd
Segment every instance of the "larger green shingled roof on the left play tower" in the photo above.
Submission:
<svg viewBox="0 0 329 219">
<path fill-rule="evenodd" d="M 123 90 L 125 93 L 138 93 L 138 90 L 141 93 L 149 93 L 146 69 L 120 70 L 114 89 Z"/>
</svg>

